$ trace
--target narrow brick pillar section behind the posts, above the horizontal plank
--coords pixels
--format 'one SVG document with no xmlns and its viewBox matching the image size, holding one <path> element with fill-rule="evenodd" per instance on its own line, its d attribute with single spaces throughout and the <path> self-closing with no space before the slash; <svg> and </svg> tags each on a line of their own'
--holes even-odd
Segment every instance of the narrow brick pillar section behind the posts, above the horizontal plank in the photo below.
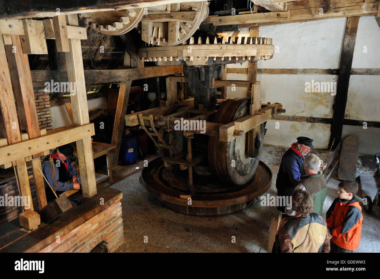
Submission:
<svg viewBox="0 0 380 279">
<path fill-rule="evenodd" d="M 45 89 L 35 90 L 34 99 L 36 101 L 38 125 L 40 125 L 40 129 L 52 129 L 53 120 L 51 118 L 49 92 L 45 92 Z"/>
</svg>

